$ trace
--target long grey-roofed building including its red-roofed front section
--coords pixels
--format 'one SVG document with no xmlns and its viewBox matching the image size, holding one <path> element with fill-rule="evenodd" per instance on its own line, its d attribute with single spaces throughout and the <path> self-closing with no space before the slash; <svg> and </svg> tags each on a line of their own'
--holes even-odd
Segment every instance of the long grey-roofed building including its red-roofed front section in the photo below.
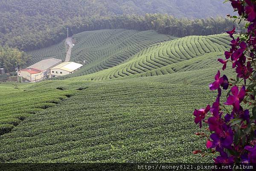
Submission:
<svg viewBox="0 0 256 171">
<path fill-rule="evenodd" d="M 41 81 L 44 80 L 44 78 L 47 78 L 47 74 L 50 73 L 50 69 L 52 67 L 61 64 L 61 62 L 61 59 L 44 59 L 27 67 L 26 69 L 20 70 L 18 75 L 32 82 Z"/>
</svg>

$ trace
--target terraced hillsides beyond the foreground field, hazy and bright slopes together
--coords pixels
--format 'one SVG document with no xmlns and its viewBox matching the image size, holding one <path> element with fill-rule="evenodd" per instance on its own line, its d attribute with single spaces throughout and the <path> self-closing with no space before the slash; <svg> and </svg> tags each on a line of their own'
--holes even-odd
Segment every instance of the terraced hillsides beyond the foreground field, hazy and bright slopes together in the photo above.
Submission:
<svg viewBox="0 0 256 171">
<path fill-rule="evenodd" d="M 71 75 L 55 79 L 103 80 L 205 69 L 205 64 L 208 68 L 220 67 L 216 58 L 223 56 L 230 44 L 226 34 L 175 38 L 152 30 L 99 30 L 82 32 L 73 38 L 76 44 L 71 61 L 84 61 L 85 65 Z M 28 54 L 32 55 L 29 64 L 49 57 L 64 59 L 64 42 Z M 198 62 L 202 65 L 193 65 Z"/>
</svg>

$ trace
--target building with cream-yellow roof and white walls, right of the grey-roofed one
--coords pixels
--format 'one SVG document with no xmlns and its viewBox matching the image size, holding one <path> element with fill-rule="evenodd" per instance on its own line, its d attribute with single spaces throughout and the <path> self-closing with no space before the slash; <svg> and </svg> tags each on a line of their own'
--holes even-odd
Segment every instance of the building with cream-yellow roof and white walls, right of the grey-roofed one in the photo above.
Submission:
<svg viewBox="0 0 256 171">
<path fill-rule="evenodd" d="M 83 65 L 75 62 L 63 62 L 51 68 L 51 77 L 72 74 L 79 70 Z"/>
</svg>

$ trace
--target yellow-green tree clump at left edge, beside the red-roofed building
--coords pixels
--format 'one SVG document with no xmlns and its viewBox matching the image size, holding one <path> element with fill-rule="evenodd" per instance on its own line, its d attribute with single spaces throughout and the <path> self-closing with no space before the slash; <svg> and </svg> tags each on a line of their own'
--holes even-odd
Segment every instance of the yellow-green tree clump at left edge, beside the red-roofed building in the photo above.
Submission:
<svg viewBox="0 0 256 171">
<path fill-rule="evenodd" d="M 23 68 L 26 66 L 30 56 L 18 49 L 0 46 L 0 68 L 4 68 L 6 72 L 15 71 L 15 67 Z"/>
</svg>

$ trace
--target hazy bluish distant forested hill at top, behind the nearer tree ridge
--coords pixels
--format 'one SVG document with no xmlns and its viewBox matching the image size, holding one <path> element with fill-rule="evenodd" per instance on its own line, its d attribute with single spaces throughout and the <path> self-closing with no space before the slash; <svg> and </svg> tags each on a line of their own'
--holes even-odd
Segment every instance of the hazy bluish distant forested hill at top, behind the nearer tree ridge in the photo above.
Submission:
<svg viewBox="0 0 256 171">
<path fill-rule="evenodd" d="M 99 0 L 98 0 L 99 1 Z M 224 0 L 105 0 L 107 9 L 115 14 L 160 13 L 175 17 L 205 18 L 232 13 Z"/>
</svg>

